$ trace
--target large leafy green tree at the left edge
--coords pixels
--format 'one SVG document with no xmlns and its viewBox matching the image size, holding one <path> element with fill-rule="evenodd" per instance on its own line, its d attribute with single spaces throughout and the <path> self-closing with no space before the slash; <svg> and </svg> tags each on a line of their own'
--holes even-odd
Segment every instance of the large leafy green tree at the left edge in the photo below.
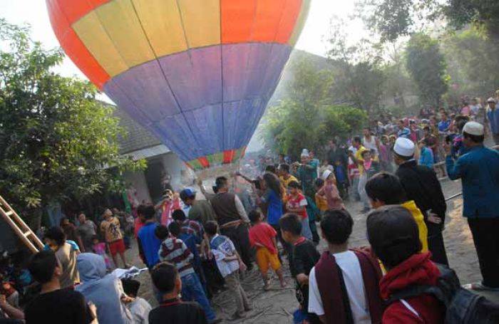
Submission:
<svg viewBox="0 0 499 324">
<path fill-rule="evenodd" d="M 123 129 L 96 88 L 53 73 L 62 51 L 31 41 L 29 28 L 0 19 L 0 39 L 0 193 L 23 212 L 120 189 L 113 174 L 144 161 L 118 154 Z"/>
</svg>

